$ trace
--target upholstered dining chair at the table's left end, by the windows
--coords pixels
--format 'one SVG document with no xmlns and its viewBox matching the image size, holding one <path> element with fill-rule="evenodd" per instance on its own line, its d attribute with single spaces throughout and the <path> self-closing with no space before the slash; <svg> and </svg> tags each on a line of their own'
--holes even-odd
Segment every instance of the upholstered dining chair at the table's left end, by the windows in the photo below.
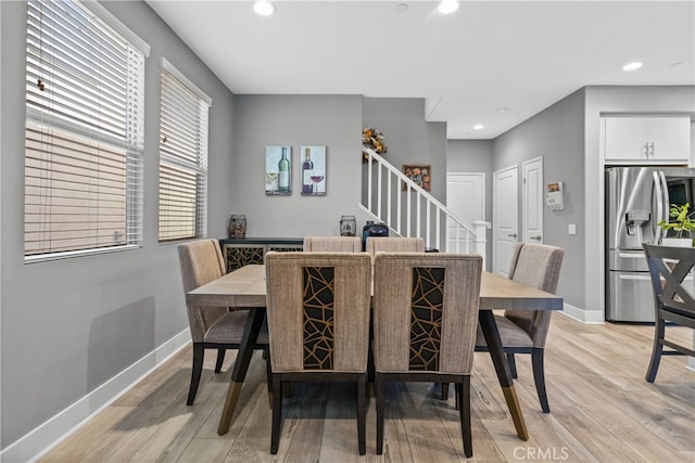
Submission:
<svg viewBox="0 0 695 463">
<path fill-rule="evenodd" d="M 178 258 L 185 294 L 225 274 L 225 261 L 216 240 L 179 244 Z M 203 371 L 205 350 L 217 349 L 215 373 L 219 373 L 225 352 L 228 349 L 239 349 L 244 327 L 252 318 L 248 310 L 230 310 L 228 307 L 186 307 L 193 342 L 193 366 L 186 404 L 192 406 Z M 267 329 L 263 329 L 254 349 L 267 348 L 268 333 Z"/>
</svg>

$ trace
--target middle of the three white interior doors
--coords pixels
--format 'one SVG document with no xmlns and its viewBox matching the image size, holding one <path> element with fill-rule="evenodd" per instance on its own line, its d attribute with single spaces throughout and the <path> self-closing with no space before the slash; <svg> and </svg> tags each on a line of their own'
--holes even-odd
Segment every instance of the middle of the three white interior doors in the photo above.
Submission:
<svg viewBox="0 0 695 463">
<path fill-rule="evenodd" d="M 519 168 L 493 173 L 492 271 L 508 276 L 509 261 L 519 233 Z"/>
</svg>

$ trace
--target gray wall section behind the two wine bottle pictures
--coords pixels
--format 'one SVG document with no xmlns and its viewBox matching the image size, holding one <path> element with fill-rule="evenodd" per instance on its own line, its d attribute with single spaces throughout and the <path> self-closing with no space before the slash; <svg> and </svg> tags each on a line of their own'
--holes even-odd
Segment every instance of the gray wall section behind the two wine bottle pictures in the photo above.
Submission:
<svg viewBox="0 0 695 463">
<path fill-rule="evenodd" d="M 237 95 L 236 160 L 227 213 L 247 216 L 247 236 L 338 235 L 357 208 L 362 182 L 362 97 Z M 292 194 L 265 195 L 265 146 L 292 146 Z M 326 145 L 326 196 L 301 195 L 302 145 Z"/>
</svg>

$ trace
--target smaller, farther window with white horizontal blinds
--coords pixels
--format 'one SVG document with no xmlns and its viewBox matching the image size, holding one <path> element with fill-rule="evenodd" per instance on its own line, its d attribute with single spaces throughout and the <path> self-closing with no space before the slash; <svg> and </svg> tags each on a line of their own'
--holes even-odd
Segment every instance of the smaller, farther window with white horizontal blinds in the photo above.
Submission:
<svg viewBox="0 0 695 463">
<path fill-rule="evenodd" d="M 202 237 L 207 227 L 211 100 L 162 60 L 160 242 Z"/>
</svg>

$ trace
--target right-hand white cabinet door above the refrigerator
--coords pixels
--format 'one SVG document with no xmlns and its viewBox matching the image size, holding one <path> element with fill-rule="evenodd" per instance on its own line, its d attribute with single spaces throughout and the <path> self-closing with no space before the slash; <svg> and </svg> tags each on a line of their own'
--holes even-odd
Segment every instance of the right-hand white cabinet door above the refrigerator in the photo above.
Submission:
<svg viewBox="0 0 695 463">
<path fill-rule="evenodd" d="M 650 159 L 687 163 L 691 157 L 690 117 L 650 118 L 648 142 Z"/>
</svg>

